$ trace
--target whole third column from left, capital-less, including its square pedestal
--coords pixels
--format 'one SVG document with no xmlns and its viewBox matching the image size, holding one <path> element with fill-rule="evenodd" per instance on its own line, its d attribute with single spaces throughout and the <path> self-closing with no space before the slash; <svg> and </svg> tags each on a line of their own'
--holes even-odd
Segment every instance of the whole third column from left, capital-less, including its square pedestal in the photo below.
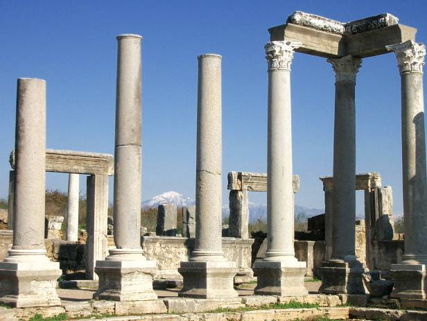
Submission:
<svg viewBox="0 0 427 321">
<path fill-rule="evenodd" d="M 221 56 L 198 56 L 195 249 L 181 262 L 181 297 L 237 297 L 236 263 L 226 261 L 221 237 Z"/>
</svg>

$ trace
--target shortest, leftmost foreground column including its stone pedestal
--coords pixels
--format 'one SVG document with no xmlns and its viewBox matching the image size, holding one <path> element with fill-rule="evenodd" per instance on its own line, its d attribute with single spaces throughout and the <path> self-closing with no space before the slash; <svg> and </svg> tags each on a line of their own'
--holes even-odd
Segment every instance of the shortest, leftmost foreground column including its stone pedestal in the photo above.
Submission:
<svg viewBox="0 0 427 321">
<path fill-rule="evenodd" d="M 46 82 L 19 78 L 15 129 L 13 245 L 0 263 L 0 302 L 10 306 L 59 305 L 59 262 L 44 248 Z"/>
</svg>

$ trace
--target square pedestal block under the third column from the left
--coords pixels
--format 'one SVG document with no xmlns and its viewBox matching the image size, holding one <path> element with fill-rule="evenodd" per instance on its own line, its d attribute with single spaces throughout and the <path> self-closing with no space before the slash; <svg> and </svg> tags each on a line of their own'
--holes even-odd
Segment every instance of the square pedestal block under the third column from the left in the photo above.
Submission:
<svg viewBox="0 0 427 321">
<path fill-rule="evenodd" d="M 183 277 L 179 297 L 216 299 L 238 297 L 234 290 L 236 263 L 230 261 L 189 261 L 181 262 L 178 272 Z"/>
</svg>

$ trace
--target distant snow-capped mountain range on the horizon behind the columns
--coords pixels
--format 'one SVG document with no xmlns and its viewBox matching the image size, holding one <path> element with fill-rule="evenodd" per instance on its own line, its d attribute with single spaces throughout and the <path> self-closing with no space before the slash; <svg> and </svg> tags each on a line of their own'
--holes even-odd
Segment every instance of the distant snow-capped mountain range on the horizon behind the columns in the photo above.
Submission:
<svg viewBox="0 0 427 321">
<path fill-rule="evenodd" d="M 143 208 L 157 207 L 162 204 L 173 203 L 177 207 L 195 205 L 193 198 L 182 196 L 175 191 L 168 191 L 157 196 L 153 196 L 149 200 L 142 202 Z M 324 209 L 311 209 L 304 206 L 295 205 L 295 214 L 304 212 L 307 217 L 323 214 Z M 223 205 L 223 217 L 229 216 L 228 205 Z M 251 222 L 257 219 L 265 220 L 267 218 L 267 205 L 249 202 L 249 219 Z"/>
</svg>

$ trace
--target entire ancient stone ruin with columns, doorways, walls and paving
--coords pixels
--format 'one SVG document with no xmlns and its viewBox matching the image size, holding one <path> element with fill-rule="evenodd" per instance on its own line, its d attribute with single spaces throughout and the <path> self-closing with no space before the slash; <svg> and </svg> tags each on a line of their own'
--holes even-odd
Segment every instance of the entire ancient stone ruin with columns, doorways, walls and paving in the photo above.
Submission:
<svg viewBox="0 0 427 321">
<path fill-rule="evenodd" d="M 16 309 L 0 309 L 1 320 L 27 318 L 40 307 L 45 315 L 67 313 L 69 318 L 141 315 L 123 320 L 152 320 L 144 316 L 150 313 L 162 314 L 162 320 L 427 318 L 426 311 L 406 311 L 427 307 L 426 50 L 415 40 L 416 29 L 388 13 L 342 23 L 298 11 L 268 31 L 267 173 L 229 172 L 227 237 L 221 230 L 220 55 L 198 56 L 195 206 L 182 209 L 181 232 L 173 204 L 159 205 L 156 234 L 141 232 L 140 35 L 116 37 L 114 158 L 46 149 L 46 82 L 18 79 L 8 214 L 3 215 L 13 232 L 0 234 L 0 254 L 6 256 L 0 262 L 0 302 Z M 308 224 L 313 233 L 307 234 L 323 235 L 317 239 L 295 239 L 294 195 L 300 187 L 293 173 L 291 130 L 295 53 L 326 58 L 336 76 L 333 173 L 320 177 L 324 216 Z M 403 241 L 394 232 L 392 188 L 382 186 L 377 172 L 356 174 L 356 74 L 363 59 L 385 53 L 396 55 L 401 76 Z M 46 172 L 69 174 L 67 229 L 60 245 L 49 241 L 61 238 L 64 218 L 45 216 Z M 78 229 L 79 175 L 88 175 L 85 241 Z M 107 236 L 108 177 L 113 175 L 113 236 Z M 356 222 L 356 190 L 364 191 L 364 221 Z M 267 193 L 267 233 L 259 239 L 248 229 L 249 191 Z M 77 261 L 71 245 L 76 249 L 82 243 L 85 279 L 96 291 L 85 302 L 64 303 L 57 281 L 64 261 Z M 309 294 L 304 281 L 313 277 L 321 277 L 321 285 Z M 254 286 L 245 294 L 241 284 Z M 159 287 L 175 292 L 159 295 Z M 317 310 L 292 314 L 275 308 L 290 302 L 315 304 Z M 382 309 L 390 306 L 392 312 Z M 245 311 L 254 307 L 258 311 Z M 197 313 L 205 311 L 214 311 L 210 319 L 199 318 Z"/>
</svg>

